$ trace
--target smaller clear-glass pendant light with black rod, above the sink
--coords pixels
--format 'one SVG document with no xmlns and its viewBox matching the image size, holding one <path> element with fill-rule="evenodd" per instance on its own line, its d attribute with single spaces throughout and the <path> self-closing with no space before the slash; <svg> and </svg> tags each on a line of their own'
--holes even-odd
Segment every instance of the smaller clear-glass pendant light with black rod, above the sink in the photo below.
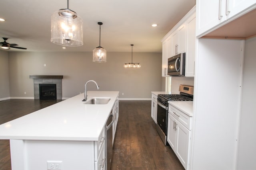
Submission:
<svg viewBox="0 0 256 170">
<path fill-rule="evenodd" d="M 98 22 L 98 25 L 102 25 L 102 22 Z M 99 45 L 92 51 L 93 62 L 104 63 L 107 62 L 107 51 Z"/>
</svg>

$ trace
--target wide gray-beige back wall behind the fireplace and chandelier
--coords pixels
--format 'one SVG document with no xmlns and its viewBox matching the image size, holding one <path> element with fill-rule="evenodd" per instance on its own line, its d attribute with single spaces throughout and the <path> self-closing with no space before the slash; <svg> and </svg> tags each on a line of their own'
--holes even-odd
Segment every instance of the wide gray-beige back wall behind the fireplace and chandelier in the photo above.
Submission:
<svg viewBox="0 0 256 170">
<path fill-rule="evenodd" d="M 123 67 L 131 62 L 130 52 L 107 52 L 106 63 L 93 63 L 92 52 L 8 52 L 8 56 L 10 97 L 34 97 L 29 75 L 63 75 L 63 98 L 83 93 L 88 80 L 95 80 L 101 91 L 120 91 L 120 98 L 151 98 L 151 91 L 162 90 L 162 53 L 133 53 L 140 69 Z M 89 83 L 88 90 L 96 86 Z"/>
</svg>

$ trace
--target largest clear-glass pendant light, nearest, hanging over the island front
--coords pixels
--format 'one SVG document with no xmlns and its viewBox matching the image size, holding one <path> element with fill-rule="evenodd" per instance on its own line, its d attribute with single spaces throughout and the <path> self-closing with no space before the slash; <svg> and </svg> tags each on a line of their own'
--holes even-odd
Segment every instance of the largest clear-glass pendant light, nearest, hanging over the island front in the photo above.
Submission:
<svg viewBox="0 0 256 170">
<path fill-rule="evenodd" d="M 82 46 L 82 18 L 69 8 L 54 12 L 51 20 L 51 42 L 71 47 Z"/>
</svg>

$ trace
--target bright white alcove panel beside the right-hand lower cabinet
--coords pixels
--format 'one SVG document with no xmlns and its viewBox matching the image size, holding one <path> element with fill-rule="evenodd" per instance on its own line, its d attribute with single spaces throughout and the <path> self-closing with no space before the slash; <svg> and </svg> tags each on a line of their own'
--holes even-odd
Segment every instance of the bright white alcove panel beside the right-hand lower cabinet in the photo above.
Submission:
<svg viewBox="0 0 256 170">
<path fill-rule="evenodd" d="M 199 39 L 192 117 L 192 170 L 234 170 L 236 167 L 243 49 L 242 40 Z"/>
</svg>

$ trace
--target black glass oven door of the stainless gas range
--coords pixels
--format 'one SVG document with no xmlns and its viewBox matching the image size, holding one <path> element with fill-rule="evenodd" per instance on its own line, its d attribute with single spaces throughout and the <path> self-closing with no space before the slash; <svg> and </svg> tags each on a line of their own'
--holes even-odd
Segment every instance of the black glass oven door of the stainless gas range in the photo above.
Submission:
<svg viewBox="0 0 256 170">
<path fill-rule="evenodd" d="M 168 106 L 164 106 L 159 102 L 157 102 L 157 105 L 157 124 L 164 135 L 167 135 Z"/>
</svg>

